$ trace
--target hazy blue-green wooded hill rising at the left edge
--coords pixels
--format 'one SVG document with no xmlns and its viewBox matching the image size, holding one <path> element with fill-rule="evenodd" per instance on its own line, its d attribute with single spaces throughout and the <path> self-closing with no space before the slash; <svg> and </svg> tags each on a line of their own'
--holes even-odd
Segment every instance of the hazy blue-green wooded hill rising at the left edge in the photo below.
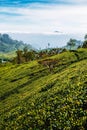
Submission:
<svg viewBox="0 0 87 130">
<path fill-rule="evenodd" d="M 0 34 L 0 52 L 11 52 L 27 47 L 29 50 L 33 49 L 30 44 L 23 41 L 13 40 L 8 34 Z"/>
</svg>

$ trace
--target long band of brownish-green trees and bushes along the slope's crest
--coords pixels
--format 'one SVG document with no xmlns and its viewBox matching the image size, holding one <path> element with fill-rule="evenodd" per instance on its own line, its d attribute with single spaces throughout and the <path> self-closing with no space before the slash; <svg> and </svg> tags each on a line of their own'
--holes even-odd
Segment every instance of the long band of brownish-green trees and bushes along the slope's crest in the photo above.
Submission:
<svg viewBox="0 0 87 130">
<path fill-rule="evenodd" d="M 62 48 L 54 48 L 50 50 L 41 50 L 41 51 L 35 51 L 35 50 L 28 50 L 27 47 L 25 47 L 22 50 L 16 51 L 16 57 L 12 60 L 13 63 L 21 64 L 24 62 L 29 62 L 35 59 L 42 59 L 46 58 L 58 53 L 63 52 L 64 49 Z"/>
</svg>

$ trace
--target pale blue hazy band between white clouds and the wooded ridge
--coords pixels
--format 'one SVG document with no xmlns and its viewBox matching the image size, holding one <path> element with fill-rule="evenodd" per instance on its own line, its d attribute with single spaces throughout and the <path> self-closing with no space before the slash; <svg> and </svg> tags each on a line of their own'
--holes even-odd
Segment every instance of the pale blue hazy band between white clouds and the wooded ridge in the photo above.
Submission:
<svg viewBox="0 0 87 130">
<path fill-rule="evenodd" d="M 32 33 L 9 33 L 10 37 L 17 40 L 22 40 L 24 43 L 31 44 L 37 49 L 46 49 L 48 43 L 50 47 L 63 47 L 66 46 L 70 38 L 77 39 L 78 41 L 84 40 L 84 34 L 32 34 Z"/>
</svg>

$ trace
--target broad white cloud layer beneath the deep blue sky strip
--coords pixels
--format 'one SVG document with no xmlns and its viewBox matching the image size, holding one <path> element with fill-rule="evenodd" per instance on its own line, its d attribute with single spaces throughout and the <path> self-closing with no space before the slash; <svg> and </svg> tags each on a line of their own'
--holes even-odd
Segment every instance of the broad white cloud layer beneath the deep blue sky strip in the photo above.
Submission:
<svg viewBox="0 0 87 130">
<path fill-rule="evenodd" d="M 85 2 L 85 0 L 83 1 Z M 1 31 L 47 33 L 58 30 L 66 33 L 87 32 L 87 7 L 85 5 L 50 5 L 42 6 L 42 8 L 4 7 L 0 8 L 0 12 L 20 14 L 20 16 L 0 15 Z"/>
</svg>

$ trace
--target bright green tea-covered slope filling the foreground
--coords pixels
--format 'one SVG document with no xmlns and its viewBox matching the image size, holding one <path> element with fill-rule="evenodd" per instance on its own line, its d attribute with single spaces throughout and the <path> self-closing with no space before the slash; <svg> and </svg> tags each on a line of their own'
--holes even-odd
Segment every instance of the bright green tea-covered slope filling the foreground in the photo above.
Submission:
<svg viewBox="0 0 87 130">
<path fill-rule="evenodd" d="M 0 67 L 1 130 L 86 130 L 87 49 L 50 58 Z"/>
</svg>

